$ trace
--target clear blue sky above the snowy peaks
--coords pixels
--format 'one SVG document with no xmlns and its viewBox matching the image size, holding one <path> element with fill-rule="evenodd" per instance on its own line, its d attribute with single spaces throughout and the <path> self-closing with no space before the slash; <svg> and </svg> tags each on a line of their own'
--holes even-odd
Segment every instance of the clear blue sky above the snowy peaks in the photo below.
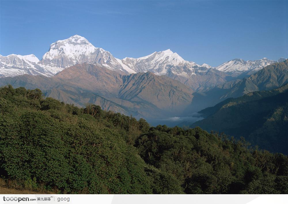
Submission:
<svg viewBox="0 0 288 204">
<path fill-rule="evenodd" d="M 217 66 L 288 58 L 288 1 L 2 1 L 0 54 L 35 54 L 81 35 L 116 58 L 171 49 Z"/>
</svg>

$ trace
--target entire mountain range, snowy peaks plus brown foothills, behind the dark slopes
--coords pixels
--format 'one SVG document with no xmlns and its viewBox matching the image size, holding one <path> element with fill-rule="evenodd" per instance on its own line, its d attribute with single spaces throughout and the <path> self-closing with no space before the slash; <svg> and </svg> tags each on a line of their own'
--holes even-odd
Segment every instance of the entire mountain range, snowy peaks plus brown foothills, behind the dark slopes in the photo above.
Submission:
<svg viewBox="0 0 288 204">
<path fill-rule="evenodd" d="M 194 117 L 227 98 L 288 81 L 287 60 L 236 59 L 213 68 L 186 61 L 170 49 L 120 60 L 79 35 L 52 43 L 41 60 L 34 55 L 0 57 L 1 86 L 40 88 L 46 97 L 68 104 L 92 103 L 148 121 Z M 244 75 L 249 76 L 239 79 Z"/>
</svg>

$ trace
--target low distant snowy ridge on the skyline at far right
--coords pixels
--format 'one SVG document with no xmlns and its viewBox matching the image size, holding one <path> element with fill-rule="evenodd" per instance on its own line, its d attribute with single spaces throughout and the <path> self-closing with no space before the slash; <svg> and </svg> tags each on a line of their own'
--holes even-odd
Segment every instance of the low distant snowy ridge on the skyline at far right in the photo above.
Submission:
<svg viewBox="0 0 288 204">
<path fill-rule="evenodd" d="M 262 68 L 276 63 L 276 62 L 283 62 L 285 58 L 280 58 L 279 60 L 268 60 L 267 58 L 262 58 L 261 60 L 242 60 L 242 59 L 234 59 L 228 62 L 224 62 L 223 64 L 216 67 L 217 70 L 223 71 L 231 75 L 232 77 L 238 76 L 249 76 L 255 74 L 257 71 L 261 70 Z"/>
</svg>

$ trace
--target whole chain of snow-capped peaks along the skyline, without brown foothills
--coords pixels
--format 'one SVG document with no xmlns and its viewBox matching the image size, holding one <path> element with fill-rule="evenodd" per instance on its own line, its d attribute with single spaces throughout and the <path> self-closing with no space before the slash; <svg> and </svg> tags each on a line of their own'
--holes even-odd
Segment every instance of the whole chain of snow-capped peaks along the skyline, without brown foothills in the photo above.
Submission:
<svg viewBox="0 0 288 204">
<path fill-rule="evenodd" d="M 283 61 L 285 58 L 278 61 L 281 60 Z M 208 64 L 199 65 L 192 61 L 186 61 L 170 49 L 154 52 L 145 57 L 126 57 L 120 60 L 110 52 L 94 47 L 84 37 L 74 35 L 52 43 L 41 60 L 34 55 L 0 55 L 0 77 L 14 77 L 23 74 L 51 77 L 65 68 L 85 62 L 99 64 L 110 70 L 120 70 L 126 75 L 147 71 L 156 75 L 166 75 L 194 91 L 204 92 L 215 85 L 228 82 L 240 74 L 255 73 L 264 66 L 277 61 L 267 58 L 247 62 L 236 59 L 213 68 Z"/>
</svg>

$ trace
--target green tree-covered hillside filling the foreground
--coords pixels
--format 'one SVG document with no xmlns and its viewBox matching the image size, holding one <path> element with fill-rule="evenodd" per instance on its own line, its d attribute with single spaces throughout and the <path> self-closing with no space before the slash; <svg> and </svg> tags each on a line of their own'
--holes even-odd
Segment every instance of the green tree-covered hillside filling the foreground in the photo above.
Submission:
<svg viewBox="0 0 288 204">
<path fill-rule="evenodd" d="M 0 89 L 0 173 L 58 193 L 288 193 L 283 154 L 12 86 Z"/>
</svg>

